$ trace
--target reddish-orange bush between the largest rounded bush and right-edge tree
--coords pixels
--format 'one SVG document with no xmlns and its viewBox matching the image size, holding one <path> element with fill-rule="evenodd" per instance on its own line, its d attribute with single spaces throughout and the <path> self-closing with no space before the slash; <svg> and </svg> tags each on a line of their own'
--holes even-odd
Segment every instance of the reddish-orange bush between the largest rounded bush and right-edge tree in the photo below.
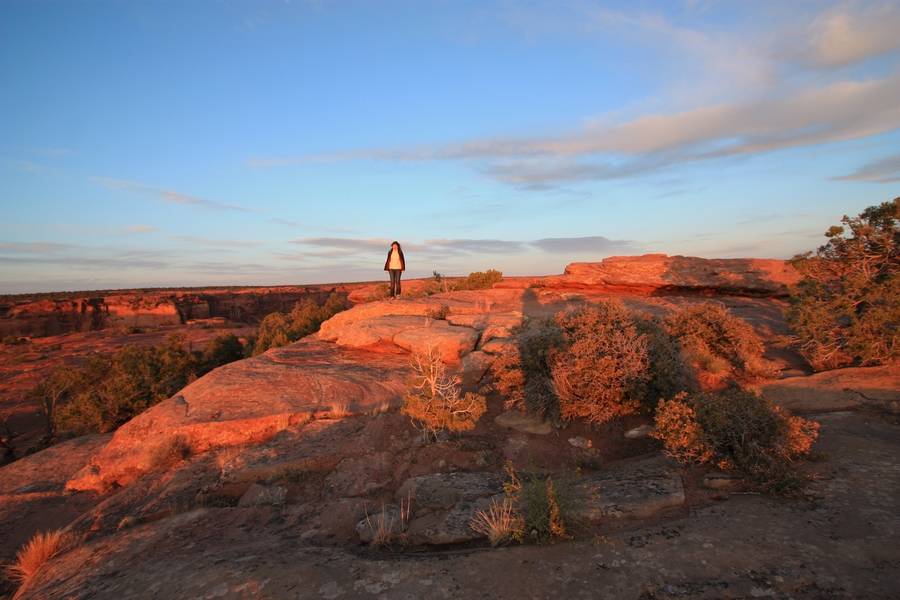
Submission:
<svg viewBox="0 0 900 600">
<path fill-rule="evenodd" d="M 746 321 L 721 304 L 681 308 L 666 317 L 665 326 L 700 371 L 732 373 L 739 379 L 772 375 L 772 367 L 763 358 L 762 340 Z"/>
</svg>

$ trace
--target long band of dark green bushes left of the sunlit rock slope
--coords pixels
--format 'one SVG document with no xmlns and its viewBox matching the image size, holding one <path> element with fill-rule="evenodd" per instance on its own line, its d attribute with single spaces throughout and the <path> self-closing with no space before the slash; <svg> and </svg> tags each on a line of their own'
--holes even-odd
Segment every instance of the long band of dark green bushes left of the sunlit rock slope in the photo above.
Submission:
<svg viewBox="0 0 900 600">
<path fill-rule="evenodd" d="M 173 336 L 158 346 L 129 346 L 112 356 L 91 356 L 78 368 L 57 368 L 30 397 L 44 415 L 45 441 L 57 433 L 102 433 L 243 356 L 243 345 L 233 334 L 216 338 L 206 352 L 191 350 L 183 338 Z"/>
</svg>

